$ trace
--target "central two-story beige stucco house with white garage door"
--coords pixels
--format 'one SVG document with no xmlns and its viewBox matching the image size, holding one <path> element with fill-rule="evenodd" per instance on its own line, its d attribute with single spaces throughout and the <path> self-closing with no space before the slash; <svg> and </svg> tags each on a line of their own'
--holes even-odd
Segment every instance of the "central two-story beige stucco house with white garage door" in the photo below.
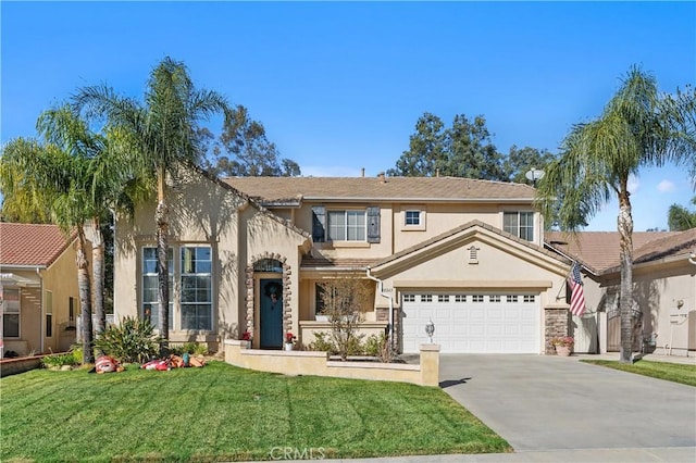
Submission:
<svg viewBox="0 0 696 463">
<path fill-rule="evenodd" d="M 544 249 L 526 185 L 452 177 L 245 177 L 183 172 L 170 189 L 172 341 L 252 335 L 281 348 L 330 330 L 318 283 L 356 276 L 374 292 L 365 334 L 403 352 L 548 350 L 568 318 L 569 261 Z M 116 225 L 116 318 L 157 322 L 154 201 Z M 560 295 L 560 296 L 559 296 Z M 560 320 L 560 322 L 559 322 Z M 560 324 L 559 324 L 560 323 Z M 561 328 L 559 328 L 559 326 Z"/>
</svg>

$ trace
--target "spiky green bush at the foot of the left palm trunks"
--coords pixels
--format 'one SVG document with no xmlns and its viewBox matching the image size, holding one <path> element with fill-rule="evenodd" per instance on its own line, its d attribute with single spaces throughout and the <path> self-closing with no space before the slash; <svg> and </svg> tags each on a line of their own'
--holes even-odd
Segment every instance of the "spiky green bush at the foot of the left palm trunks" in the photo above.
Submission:
<svg viewBox="0 0 696 463">
<path fill-rule="evenodd" d="M 149 321 L 126 316 L 119 325 L 108 326 L 95 339 L 95 349 L 121 363 L 142 363 L 159 354 L 162 340 Z"/>
</svg>

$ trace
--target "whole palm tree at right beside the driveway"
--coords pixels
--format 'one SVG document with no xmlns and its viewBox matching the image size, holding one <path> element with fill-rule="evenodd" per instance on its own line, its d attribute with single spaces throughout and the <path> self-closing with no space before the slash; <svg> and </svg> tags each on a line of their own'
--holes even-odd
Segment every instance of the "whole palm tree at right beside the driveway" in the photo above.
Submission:
<svg viewBox="0 0 696 463">
<path fill-rule="evenodd" d="M 632 362 L 635 313 L 629 175 L 643 165 L 693 159 L 696 143 L 688 121 L 694 97 L 682 93 L 680 98 L 661 96 L 655 77 L 632 67 L 602 114 L 573 126 L 561 157 L 548 165 L 538 184 L 537 203 L 544 215 L 563 229 L 576 230 L 612 196 L 619 200 L 621 363 Z M 559 204 L 556 198 L 563 201 Z"/>
</svg>

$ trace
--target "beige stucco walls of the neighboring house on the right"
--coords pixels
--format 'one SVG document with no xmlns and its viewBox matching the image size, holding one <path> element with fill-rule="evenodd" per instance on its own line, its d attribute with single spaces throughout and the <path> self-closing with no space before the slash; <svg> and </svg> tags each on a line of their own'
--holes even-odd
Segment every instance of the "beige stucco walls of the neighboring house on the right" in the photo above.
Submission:
<svg viewBox="0 0 696 463">
<path fill-rule="evenodd" d="M 584 278 L 588 311 L 598 312 L 599 351 L 607 351 L 607 301 L 619 293 L 618 273 Z M 686 355 L 696 349 L 696 265 L 684 258 L 637 264 L 633 271 L 634 298 L 643 312 L 643 335 L 656 337 L 656 352 Z M 681 308 L 679 301 L 683 301 Z"/>
</svg>

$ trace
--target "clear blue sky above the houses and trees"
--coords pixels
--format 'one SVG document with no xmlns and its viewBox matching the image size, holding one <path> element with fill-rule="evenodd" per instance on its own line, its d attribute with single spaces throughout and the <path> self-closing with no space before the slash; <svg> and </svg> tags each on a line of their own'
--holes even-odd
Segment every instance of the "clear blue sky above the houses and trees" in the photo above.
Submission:
<svg viewBox="0 0 696 463">
<path fill-rule="evenodd" d="M 423 112 L 482 114 L 501 152 L 557 151 L 633 64 L 696 82 L 696 2 L 0 3 L 1 140 L 78 87 L 139 97 L 165 55 L 261 121 L 304 175 L 394 167 Z M 213 130 L 219 128 L 212 126 Z M 682 168 L 634 179 L 635 229 L 695 195 Z M 616 202 L 587 229 L 616 229 Z"/>
</svg>

